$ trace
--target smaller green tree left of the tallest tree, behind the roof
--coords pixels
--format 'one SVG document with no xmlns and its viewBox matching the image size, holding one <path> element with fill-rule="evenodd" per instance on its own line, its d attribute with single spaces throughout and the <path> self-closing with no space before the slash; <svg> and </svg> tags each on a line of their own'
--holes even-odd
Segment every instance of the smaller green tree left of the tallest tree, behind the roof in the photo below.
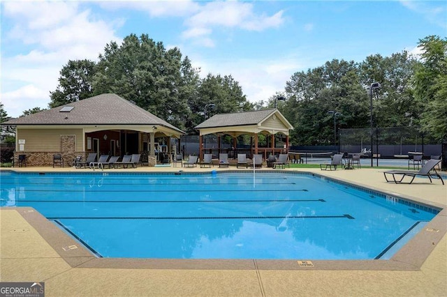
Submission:
<svg viewBox="0 0 447 297">
<path fill-rule="evenodd" d="M 93 96 L 95 63 L 89 60 L 68 61 L 60 71 L 59 85 L 50 92 L 50 108 Z"/>
</svg>

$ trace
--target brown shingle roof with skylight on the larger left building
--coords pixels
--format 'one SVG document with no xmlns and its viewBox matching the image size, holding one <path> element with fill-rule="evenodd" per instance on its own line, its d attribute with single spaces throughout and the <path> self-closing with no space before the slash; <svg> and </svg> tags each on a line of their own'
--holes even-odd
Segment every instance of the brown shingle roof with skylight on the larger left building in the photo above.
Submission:
<svg viewBox="0 0 447 297">
<path fill-rule="evenodd" d="M 73 107 L 70 112 L 60 112 Z M 2 125 L 163 125 L 184 133 L 179 128 L 134 105 L 129 100 L 107 93 L 61 105 Z"/>
</svg>

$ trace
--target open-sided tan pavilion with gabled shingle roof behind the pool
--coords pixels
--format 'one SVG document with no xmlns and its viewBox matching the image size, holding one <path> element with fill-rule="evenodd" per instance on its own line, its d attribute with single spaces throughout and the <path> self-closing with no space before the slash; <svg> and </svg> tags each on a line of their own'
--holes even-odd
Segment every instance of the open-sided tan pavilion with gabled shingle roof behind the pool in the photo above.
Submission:
<svg viewBox="0 0 447 297">
<path fill-rule="evenodd" d="M 199 152 L 200 160 L 203 160 L 203 153 L 223 153 L 226 148 L 221 148 L 221 137 L 230 135 L 233 137 L 233 148 L 235 151 L 241 151 L 237 147 L 237 137 L 240 135 L 250 135 L 252 142 L 249 148 L 249 158 L 253 154 L 262 153 L 264 158 L 269 153 L 288 153 L 289 131 L 293 130 L 291 123 L 279 112 L 278 109 L 263 109 L 254 112 L 237 112 L 233 114 L 216 114 L 210 119 L 197 125 L 196 130 L 200 132 Z M 286 144 L 281 147 L 275 147 L 274 135 L 282 133 L 286 136 Z M 205 148 L 203 146 L 203 137 L 205 135 L 217 135 L 217 148 Z M 258 147 L 258 135 L 268 135 L 271 138 L 270 146 Z M 243 151 L 243 150 L 242 150 Z M 245 149 L 247 151 L 247 149 Z"/>
</svg>

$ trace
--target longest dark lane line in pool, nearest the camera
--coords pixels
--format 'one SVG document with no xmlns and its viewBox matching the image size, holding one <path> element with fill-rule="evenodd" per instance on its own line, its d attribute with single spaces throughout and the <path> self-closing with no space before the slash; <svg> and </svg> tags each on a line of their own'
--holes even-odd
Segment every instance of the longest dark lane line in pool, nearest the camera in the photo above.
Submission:
<svg viewBox="0 0 447 297">
<path fill-rule="evenodd" d="M 47 217 L 48 220 L 240 220 L 240 219 L 349 219 L 351 215 L 274 215 L 263 217 Z"/>
</svg>

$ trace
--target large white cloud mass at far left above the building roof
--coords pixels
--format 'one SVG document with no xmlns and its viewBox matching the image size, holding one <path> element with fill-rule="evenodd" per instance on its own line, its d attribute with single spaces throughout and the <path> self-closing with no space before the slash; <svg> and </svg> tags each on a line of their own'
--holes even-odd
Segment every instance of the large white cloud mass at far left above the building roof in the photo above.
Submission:
<svg viewBox="0 0 447 297">
<path fill-rule="evenodd" d="M 121 42 L 115 27 L 122 20 L 95 20 L 90 10 L 75 2 L 5 2 L 3 18 L 13 24 L 3 29 L 2 43 L 16 43 L 1 52 L 3 105 L 10 116 L 23 110 L 47 107 L 57 87 L 59 71 L 75 59 L 98 59 L 106 43 Z M 26 51 L 23 49 L 29 48 Z M 45 102 L 44 102 L 45 101 Z"/>
</svg>

